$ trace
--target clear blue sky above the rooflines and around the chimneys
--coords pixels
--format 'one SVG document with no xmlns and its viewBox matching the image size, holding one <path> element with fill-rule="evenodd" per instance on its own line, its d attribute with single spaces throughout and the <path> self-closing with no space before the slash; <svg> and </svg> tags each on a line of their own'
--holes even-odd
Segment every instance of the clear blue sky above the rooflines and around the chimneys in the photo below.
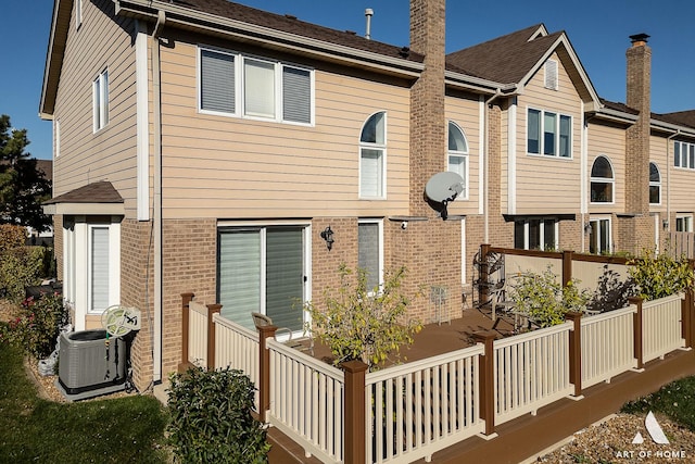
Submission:
<svg viewBox="0 0 695 464">
<path fill-rule="evenodd" d="M 408 0 L 241 0 L 240 3 L 336 29 L 365 33 L 366 8 L 375 12 L 374 40 L 408 43 Z M 0 114 L 26 128 L 27 151 L 51 158 L 51 123 L 38 106 L 50 33 L 52 0 L 0 3 Z M 446 2 L 446 51 L 544 23 L 565 30 L 598 95 L 626 100 L 629 36 L 652 36 L 652 110 L 668 113 L 695 109 L 695 1 L 693 0 L 497 0 Z"/>
</svg>

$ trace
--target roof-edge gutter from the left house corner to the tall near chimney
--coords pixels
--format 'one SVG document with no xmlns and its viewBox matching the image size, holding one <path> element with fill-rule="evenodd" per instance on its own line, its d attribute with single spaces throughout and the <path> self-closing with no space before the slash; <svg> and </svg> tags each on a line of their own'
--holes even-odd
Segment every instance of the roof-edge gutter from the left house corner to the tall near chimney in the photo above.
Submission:
<svg viewBox="0 0 695 464">
<path fill-rule="evenodd" d="M 424 63 L 402 58 L 388 57 L 351 47 L 330 43 L 309 37 L 276 30 L 265 26 L 229 20 L 214 14 L 202 13 L 170 3 L 152 0 L 114 0 L 116 14 L 154 20 L 157 4 L 167 15 L 167 26 L 179 26 L 186 29 L 203 30 L 208 34 L 235 37 L 242 41 L 253 41 L 265 46 L 281 47 L 321 58 L 338 61 L 353 66 L 367 67 L 404 77 L 416 78 L 425 70 Z"/>
</svg>

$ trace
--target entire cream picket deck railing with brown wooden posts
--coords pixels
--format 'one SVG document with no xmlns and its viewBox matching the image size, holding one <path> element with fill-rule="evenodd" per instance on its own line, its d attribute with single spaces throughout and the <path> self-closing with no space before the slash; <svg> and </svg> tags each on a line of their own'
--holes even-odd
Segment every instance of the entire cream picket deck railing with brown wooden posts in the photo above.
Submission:
<svg viewBox="0 0 695 464">
<path fill-rule="evenodd" d="M 365 373 L 359 361 L 338 369 L 277 342 L 273 326 L 255 334 L 217 314 L 219 305 L 204 312 L 202 305 L 191 309 L 191 293 L 184 296 L 188 365 L 201 359 L 208 368 L 245 372 L 258 389 L 261 419 L 325 463 L 428 461 L 473 435 L 493 438 L 500 424 L 565 397 L 579 400 L 582 389 L 695 344 L 695 304 L 687 291 L 652 302 L 630 299 L 628 308 L 590 317 L 571 313 L 565 324 L 501 340 L 496 333 L 475 334 L 481 342 L 473 347 Z"/>
</svg>

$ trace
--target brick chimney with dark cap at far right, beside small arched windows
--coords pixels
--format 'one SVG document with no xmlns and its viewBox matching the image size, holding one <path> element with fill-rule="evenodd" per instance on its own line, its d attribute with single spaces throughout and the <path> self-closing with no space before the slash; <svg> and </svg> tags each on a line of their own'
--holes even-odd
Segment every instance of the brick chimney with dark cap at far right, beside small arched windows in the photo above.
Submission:
<svg viewBox="0 0 695 464">
<path fill-rule="evenodd" d="M 654 222 L 649 217 L 649 118 L 652 114 L 652 49 L 646 34 L 630 36 L 627 57 L 627 104 L 640 111 L 626 131 L 626 214 L 619 248 L 641 254 L 654 248 Z M 620 238 L 620 237 L 619 237 Z"/>
</svg>

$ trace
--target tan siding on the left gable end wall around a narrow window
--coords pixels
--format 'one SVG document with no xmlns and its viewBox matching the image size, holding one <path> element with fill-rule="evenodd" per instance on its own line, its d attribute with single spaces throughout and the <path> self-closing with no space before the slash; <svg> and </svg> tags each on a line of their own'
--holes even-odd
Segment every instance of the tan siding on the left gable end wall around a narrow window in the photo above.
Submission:
<svg viewBox="0 0 695 464">
<path fill-rule="evenodd" d="M 125 199 L 126 214 L 136 206 L 136 76 L 131 20 L 110 18 L 109 0 L 84 2 L 83 23 L 67 36 L 56 97 L 61 155 L 54 164 L 53 195 L 109 180 Z M 92 130 L 92 81 L 109 71 L 109 124 Z"/>
</svg>

